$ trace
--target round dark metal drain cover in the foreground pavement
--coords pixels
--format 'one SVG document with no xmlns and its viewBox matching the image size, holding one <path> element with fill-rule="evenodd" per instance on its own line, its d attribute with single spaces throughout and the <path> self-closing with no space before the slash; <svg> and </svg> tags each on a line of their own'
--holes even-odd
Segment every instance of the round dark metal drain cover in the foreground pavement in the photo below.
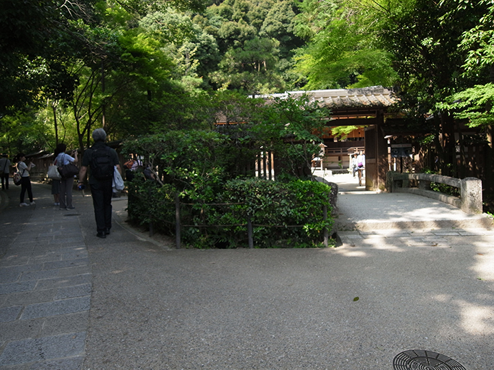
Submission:
<svg viewBox="0 0 494 370">
<path fill-rule="evenodd" d="M 393 359 L 395 370 L 467 370 L 448 356 L 423 349 L 410 349 Z"/>
</svg>

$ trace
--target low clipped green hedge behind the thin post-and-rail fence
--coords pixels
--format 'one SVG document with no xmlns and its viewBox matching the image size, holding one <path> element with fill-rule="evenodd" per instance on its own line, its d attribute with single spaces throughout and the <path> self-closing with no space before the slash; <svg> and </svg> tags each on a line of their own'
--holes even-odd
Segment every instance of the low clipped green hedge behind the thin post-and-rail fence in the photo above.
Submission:
<svg viewBox="0 0 494 370">
<path fill-rule="evenodd" d="M 152 222 L 154 230 L 175 232 L 176 188 L 158 186 L 138 175 L 128 183 L 128 214 L 141 225 Z M 231 180 L 211 202 L 193 201 L 180 193 L 182 243 L 190 247 L 247 247 L 247 220 L 253 226 L 255 247 L 321 247 L 325 227 L 333 220 L 323 219 L 322 206 L 331 214 L 331 188 L 318 182 L 296 180 L 280 183 L 258 178 Z M 187 225 L 187 226 L 185 226 Z"/>
</svg>

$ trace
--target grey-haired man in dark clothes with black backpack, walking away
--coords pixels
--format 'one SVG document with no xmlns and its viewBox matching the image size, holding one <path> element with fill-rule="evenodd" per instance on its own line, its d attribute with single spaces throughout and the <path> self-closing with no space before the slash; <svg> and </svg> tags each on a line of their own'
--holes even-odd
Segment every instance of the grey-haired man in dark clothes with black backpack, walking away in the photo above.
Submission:
<svg viewBox="0 0 494 370">
<path fill-rule="evenodd" d="M 87 169 L 90 169 L 89 186 L 93 197 L 98 238 L 110 234 L 112 214 L 112 182 L 115 166 L 121 173 L 119 159 L 115 149 L 105 144 L 106 132 L 100 128 L 93 131 L 94 145 L 84 151 L 79 171 L 78 186 L 84 183 Z"/>
</svg>

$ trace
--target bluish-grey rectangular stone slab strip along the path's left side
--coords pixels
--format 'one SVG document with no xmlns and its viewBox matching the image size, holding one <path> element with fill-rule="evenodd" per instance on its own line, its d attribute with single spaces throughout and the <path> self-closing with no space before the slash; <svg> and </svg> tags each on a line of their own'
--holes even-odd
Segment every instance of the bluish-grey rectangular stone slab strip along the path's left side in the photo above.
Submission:
<svg viewBox="0 0 494 370">
<path fill-rule="evenodd" d="M 91 306 L 88 252 L 77 214 L 50 206 L 48 187 L 34 188 L 37 204 L 29 208 L 18 208 L 19 189 L 9 190 L 11 207 L 0 218 L 2 234 L 15 230 L 0 254 L 0 369 L 80 369 Z M 11 225 L 9 216 L 23 222 Z"/>
</svg>

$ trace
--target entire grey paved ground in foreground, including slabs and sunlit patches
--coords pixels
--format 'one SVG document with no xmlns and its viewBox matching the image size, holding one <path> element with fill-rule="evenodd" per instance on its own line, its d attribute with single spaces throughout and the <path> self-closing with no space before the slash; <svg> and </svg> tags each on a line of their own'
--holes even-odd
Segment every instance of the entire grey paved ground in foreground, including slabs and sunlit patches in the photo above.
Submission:
<svg viewBox="0 0 494 370">
<path fill-rule="evenodd" d="M 492 228 L 177 250 L 125 225 L 125 199 L 102 240 L 91 197 L 60 211 L 34 184 L 19 208 L 19 190 L 0 212 L 0 370 L 392 370 L 408 349 L 494 369 Z"/>
</svg>

